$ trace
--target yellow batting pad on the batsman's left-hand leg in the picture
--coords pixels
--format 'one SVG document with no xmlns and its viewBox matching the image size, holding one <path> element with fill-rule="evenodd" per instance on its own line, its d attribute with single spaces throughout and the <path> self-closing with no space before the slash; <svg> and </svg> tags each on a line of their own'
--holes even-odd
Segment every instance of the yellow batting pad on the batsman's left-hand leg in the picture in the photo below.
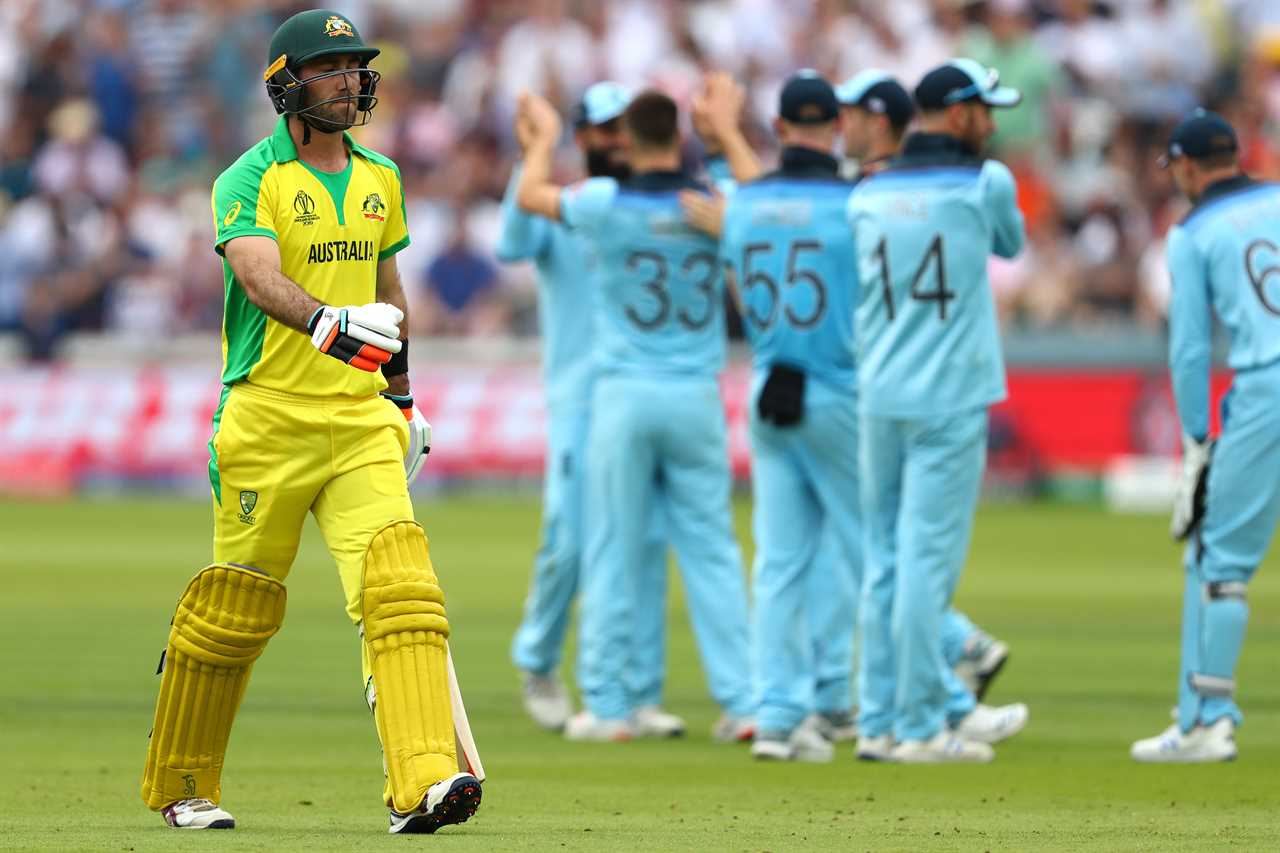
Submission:
<svg viewBox="0 0 1280 853">
<path fill-rule="evenodd" d="M 154 809 L 204 797 L 220 802 L 223 758 L 253 661 L 284 621 L 284 584 L 242 566 L 202 569 L 169 630 L 155 725 L 142 774 Z"/>
</svg>

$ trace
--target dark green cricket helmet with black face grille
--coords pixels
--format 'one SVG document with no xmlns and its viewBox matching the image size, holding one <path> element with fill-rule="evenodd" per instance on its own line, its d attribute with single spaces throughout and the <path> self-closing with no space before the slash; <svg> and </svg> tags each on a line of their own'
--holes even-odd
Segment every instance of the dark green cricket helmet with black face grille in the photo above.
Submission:
<svg viewBox="0 0 1280 853">
<path fill-rule="evenodd" d="M 266 95 L 271 99 L 271 105 L 278 114 L 297 115 L 308 127 L 323 133 L 346 131 L 348 127 L 367 124 L 370 113 L 378 99 L 374 91 L 381 78 L 375 70 L 369 69 L 369 61 L 380 51 L 367 46 L 360 37 L 360 31 L 344 15 L 328 9 L 308 9 L 300 12 L 280 24 L 271 36 L 271 45 L 266 55 L 266 72 L 262 79 L 266 81 Z M 348 123 L 335 123 L 329 118 L 323 118 L 315 110 L 326 104 L 347 102 L 351 96 L 330 97 L 315 104 L 306 102 L 306 83 L 349 74 L 351 70 L 338 69 L 314 74 L 302 79 L 298 72 L 306 63 L 323 56 L 351 55 L 360 58 L 360 90 L 355 95 L 356 120 Z"/>
</svg>

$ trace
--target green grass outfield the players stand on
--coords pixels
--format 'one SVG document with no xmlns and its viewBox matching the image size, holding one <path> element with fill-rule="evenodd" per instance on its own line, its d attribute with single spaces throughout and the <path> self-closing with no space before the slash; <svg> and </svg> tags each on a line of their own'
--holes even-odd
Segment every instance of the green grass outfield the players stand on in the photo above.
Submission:
<svg viewBox="0 0 1280 853">
<path fill-rule="evenodd" d="M 1242 757 L 1139 767 L 1167 724 L 1179 552 L 1164 517 L 991 506 L 959 603 L 1010 640 L 992 699 L 1025 733 L 980 767 L 756 765 L 713 744 L 684 606 L 672 602 L 667 704 L 680 742 L 570 744 L 520 710 L 507 661 L 538 505 L 419 505 L 489 781 L 471 822 L 385 834 L 379 752 L 337 573 L 308 528 L 288 619 L 232 738 L 234 833 L 177 834 L 138 800 L 173 605 L 207 558 L 198 502 L 0 503 L 0 849 L 59 850 L 1263 850 L 1280 847 L 1280 566 L 1251 590 Z M 737 506 L 748 542 L 748 506 Z M 678 589 L 678 583 L 673 584 Z"/>
</svg>

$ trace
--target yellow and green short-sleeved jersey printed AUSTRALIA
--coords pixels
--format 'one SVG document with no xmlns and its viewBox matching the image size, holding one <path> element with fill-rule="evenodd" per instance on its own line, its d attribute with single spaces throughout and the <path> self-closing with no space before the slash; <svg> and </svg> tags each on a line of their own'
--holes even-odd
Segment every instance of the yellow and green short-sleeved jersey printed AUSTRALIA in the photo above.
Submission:
<svg viewBox="0 0 1280 853">
<path fill-rule="evenodd" d="M 298 159 L 287 117 L 214 182 L 215 250 L 261 234 L 280 246 L 280 272 L 326 305 L 376 300 L 378 263 L 408 246 L 399 169 L 343 133 L 347 169 L 326 173 Z M 317 397 L 369 397 L 387 387 L 323 355 L 311 339 L 248 301 L 223 260 L 223 384 L 255 386 Z"/>
</svg>

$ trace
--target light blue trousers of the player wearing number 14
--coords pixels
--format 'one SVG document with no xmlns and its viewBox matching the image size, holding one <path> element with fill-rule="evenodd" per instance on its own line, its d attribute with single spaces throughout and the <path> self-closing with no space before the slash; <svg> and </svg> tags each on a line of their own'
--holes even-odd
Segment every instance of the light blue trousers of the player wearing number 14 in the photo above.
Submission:
<svg viewBox="0 0 1280 853">
<path fill-rule="evenodd" d="M 942 630 L 973 530 L 987 410 L 863 416 L 865 565 L 859 731 L 924 740 L 973 707 L 942 654 Z"/>
</svg>

